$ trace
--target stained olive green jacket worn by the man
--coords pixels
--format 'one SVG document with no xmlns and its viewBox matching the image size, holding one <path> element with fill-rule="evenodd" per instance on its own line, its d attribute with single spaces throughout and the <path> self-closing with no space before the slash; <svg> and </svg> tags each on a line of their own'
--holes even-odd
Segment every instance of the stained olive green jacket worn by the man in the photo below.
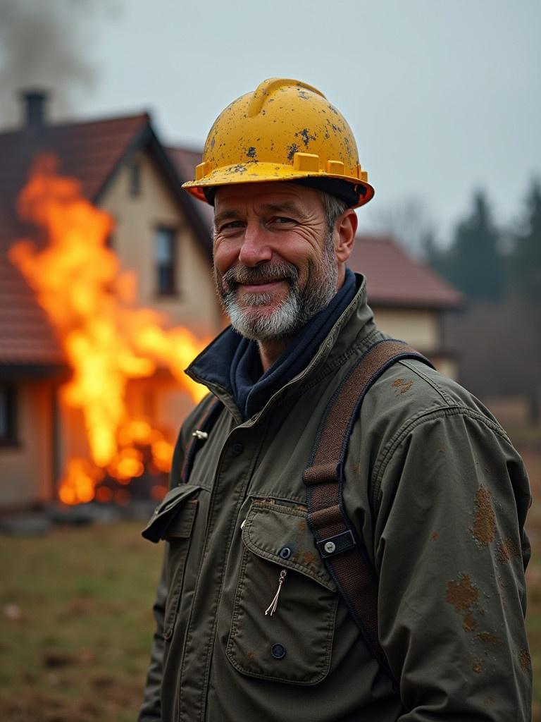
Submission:
<svg viewBox="0 0 541 722">
<path fill-rule="evenodd" d="M 165 557 L 140 722 L 529 720 L 529 486 L 470 393 L 397 362 L 348 445 L 344 502 L 377 570 L 399 692 L 315 549 L 302 472 L 333 391 L 382 337 L 363 282 L 312 362 L 251 419 L 207 384 L 224 409 L 179 485 L 199 412 L 185 422 L 171 490 L 144 532 Z"/>
</svg>

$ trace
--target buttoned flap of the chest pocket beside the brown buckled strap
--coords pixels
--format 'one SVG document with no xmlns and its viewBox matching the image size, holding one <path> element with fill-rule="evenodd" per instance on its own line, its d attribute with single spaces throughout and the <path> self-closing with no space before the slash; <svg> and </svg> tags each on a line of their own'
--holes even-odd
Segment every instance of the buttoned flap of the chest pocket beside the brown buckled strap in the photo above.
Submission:
<svg viewBox="0 0 541 722">
<path fill-rule="evenodd" d="M 255 500 L 242 526 L 242 541 L 258 557 L 293 569 L 336 591 L 336 584 L 317 552 L 304 511 Z"/>
</svg>

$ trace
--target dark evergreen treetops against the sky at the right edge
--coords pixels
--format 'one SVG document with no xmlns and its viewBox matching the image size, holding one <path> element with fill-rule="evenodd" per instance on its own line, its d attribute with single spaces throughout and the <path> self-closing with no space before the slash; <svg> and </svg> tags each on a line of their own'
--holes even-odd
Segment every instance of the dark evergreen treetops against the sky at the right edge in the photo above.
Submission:
<svg viewBox="0 0 541 722">
<path fill-rule="evenodd" d="M 423 243 L 425 260 L 461 290 L 468 302 L 498 303 L 514 297 L 541 309 L 541 183 L 532 181 L 524 211 L 511 228 L 496 225 L 487 196 L 475 193 L 472 210 L 440 248 L 434 236 Z"/>
</svg>

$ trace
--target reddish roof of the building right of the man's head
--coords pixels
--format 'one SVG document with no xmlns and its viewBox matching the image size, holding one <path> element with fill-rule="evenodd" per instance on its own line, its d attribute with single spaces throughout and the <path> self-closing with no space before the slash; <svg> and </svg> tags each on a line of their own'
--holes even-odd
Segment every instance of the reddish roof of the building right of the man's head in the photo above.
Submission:
<svg viewBox="0 0 541 722">
<path fill-rule="evenodd" d="M 358 235 L 348 266 L 366 276 L 371 305 L 437 309 L 458 308 L 464 301 L 462 293 L 392 238 Z"/>
</svg>

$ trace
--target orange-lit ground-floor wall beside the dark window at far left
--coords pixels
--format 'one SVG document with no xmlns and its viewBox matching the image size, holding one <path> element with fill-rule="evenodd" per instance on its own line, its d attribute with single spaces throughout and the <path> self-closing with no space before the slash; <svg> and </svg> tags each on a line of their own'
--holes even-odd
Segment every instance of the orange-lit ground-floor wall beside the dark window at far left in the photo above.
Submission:
<svg viewBox="0 0 541 722">
<path fill-rule="evenodd" d="M 17 385 L 19 445 L 0 446 L 0 508 L 50 500 L 52 476 L 52 384 Z"/>
</svg>

